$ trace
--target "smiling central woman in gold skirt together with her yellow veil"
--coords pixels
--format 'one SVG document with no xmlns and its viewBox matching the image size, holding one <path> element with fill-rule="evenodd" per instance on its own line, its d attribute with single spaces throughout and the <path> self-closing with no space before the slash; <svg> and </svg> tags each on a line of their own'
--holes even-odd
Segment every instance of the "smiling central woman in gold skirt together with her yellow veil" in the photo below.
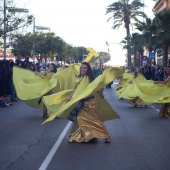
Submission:
<svg viewBox="0 0 170 170">
<path fill-rule="evenodd" d="M 80 101 L 83 101 L 83 105 L 79 108 L 76 119 L 73 121 L 69 142 L 81 143 L 104 139 L 106 143 L 109 143 L 110 135 L 103 121 L 116 119 L 119 116 L 103 98 L 100 90 L 116 78 L 116 75 L 122 73 L 121 69 L 110 68 L 93 80 L 90 65 L 87 62 L 82 63 L 74 90 L 43 97 L 47 108 L 53 111 L 44 123 L 53 120 L 56 116 L 67 119 Z"/>
</svg>

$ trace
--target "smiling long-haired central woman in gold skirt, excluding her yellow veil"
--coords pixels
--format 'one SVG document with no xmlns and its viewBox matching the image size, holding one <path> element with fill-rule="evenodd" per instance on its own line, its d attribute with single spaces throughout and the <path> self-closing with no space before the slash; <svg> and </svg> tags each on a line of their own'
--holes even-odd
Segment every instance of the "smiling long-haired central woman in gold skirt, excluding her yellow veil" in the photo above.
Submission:
<svg viewBox="0 0 170 170">
<path fill-rule="evenodd" d="M 89 63 L 82 63 L 78 78 L 78 84 L 83 78 L 86 78 L 86 86 L 94 80 Z M 76 88 L 78 88 L 78 86 Z M 67 102 L 71 100 L 74 92 L 67 98 Z M 102 98 L 104 97 L 101 91 L 98 91 L 98 93 Z M 102 138 L 105 139 L 106 143 L 110 143 L 111 139 L 109 133 L 96 110 L 95 97 L 90 95 L 87 98 L 82 99 L 81 102 L 83 102 L 82 108 L 80 108 L 79 111 L 77 110 L 77 118 L 73 122 L 69 135 L 69 142 L 89 142 L 91 140 L 97 142 L 98 138 Z"/>
</svg>

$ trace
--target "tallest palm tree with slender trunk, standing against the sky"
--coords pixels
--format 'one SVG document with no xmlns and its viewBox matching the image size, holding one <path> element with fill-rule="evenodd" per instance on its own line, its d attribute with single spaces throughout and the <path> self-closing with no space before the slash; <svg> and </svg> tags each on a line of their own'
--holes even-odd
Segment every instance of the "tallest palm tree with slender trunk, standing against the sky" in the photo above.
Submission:
<svg viewBox="0 0 170 170">
<path fill-rule="evenodd" d="M 131 3 L 129 0 L 118 0 L 107 6 L 106 14 L 111 13 L 112 16 L 108 19 L 113 19 L 113 29 L 119 28 L 124 25 L 127 35 L 127 55 L 128 55 L 128 66 L 131 65 L 131 54 L 130 54 L 130 27 L 129 25 L 134 23 L 141 22 L 138 17 L 146 18 L 145 13 L 141 10 L 144 7 L 144 4 L 141 0 L 133 0 Z M 133 25 L 133 24 L 132 24 Z"/>
</svg>

